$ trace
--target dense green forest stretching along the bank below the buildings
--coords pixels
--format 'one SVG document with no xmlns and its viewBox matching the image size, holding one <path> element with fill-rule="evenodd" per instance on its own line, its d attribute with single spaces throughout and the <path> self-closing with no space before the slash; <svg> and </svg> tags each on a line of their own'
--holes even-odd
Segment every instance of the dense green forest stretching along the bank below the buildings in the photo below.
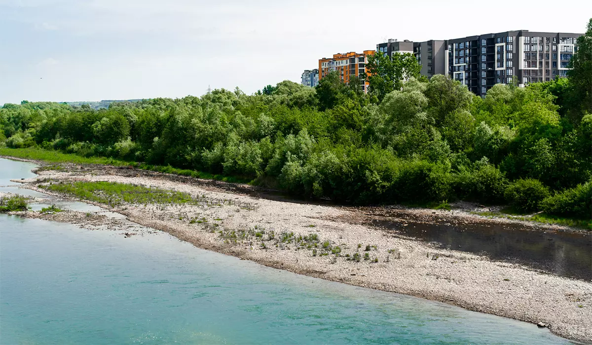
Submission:
<svg viewBox="0 0 592 345">
<path fill-rule="evenodd" d="M 382 68 L 409 63 L 395 56 L 369 60 L 381 69 L 368 94 L 333 72 L 316 88 L 286 80 L 99 110 L 22 101 L 0 108 L 0 146 L 242 176 L 348 204 L 463 200 L 590 219 L 591 42 L 592 20 L 568 78 L 497 84 L 484 98 L 443 75 Z"/>
</svg>

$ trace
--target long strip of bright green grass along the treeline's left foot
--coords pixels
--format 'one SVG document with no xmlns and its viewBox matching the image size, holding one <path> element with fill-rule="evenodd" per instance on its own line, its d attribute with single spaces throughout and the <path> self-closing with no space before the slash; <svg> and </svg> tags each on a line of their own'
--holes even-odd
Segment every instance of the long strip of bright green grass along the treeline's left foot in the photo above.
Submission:
<svg viewBox="0 0 592 345">
<path fill-rule="evenodd" d="M 173 175 L 191 176 L 192 178 L 218 180 L 231 183 L 252 183 L 253 179 L 244 176 L 226 176 L 207 172 L 200 172 L 190 169 L 178 169 L 172 166 L 149 165 L 146 163 L 128 162 L 126 160 L 108 157 L 83 157 L 78 154 L 62 153 L 54 150 L 43 150 L 37 148 L 8 149 L 0 147 L 0 156 L 17 157 L 23 159 L 42 160 L 46 163 L 75 163 L 75 164 L 100 164 L 112 166 L 131 166 L 141 170 L 170 173 Z M 57 166 L 43 168 L 45 170 L 59 170 Z M 42 170 L 43 170 L 42 169 Z"/>
</svg>

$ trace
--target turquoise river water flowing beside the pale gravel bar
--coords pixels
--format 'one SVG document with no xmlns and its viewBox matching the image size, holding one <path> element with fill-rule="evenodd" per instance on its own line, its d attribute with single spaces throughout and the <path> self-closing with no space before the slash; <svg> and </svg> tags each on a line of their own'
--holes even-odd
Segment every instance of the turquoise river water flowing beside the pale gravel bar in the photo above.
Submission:
<svg viewBox="0 0 592 345">
<path fill-rule="evenodd" d="M 0 192 L 36 195 L 6 187 L 32 167 L 0 160 Z M 208 252 L 160 231 L 124 238 L 0 215 L 0 343 L 568 341 L 532 324 Z"/>
</svg>

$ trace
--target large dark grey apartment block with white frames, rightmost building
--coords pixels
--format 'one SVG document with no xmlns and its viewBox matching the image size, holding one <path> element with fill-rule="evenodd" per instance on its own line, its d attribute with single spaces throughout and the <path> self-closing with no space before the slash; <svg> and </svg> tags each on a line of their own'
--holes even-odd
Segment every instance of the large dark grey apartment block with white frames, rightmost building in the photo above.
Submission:
<svg viewBox="0 0 592 345">
<path fill-rule="evenodd" d="M 582 34 L 505 31 L 448 40 L 448 73 L 475 95 L 497 83 L 519 86 L 567 75 Z"/>
</svg>

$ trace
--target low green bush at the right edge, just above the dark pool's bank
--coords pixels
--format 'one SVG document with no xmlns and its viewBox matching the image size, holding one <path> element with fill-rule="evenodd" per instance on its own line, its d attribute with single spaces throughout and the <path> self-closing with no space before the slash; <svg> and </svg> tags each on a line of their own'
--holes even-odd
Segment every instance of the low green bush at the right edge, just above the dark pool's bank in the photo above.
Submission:
<svg viewBox="0 0 592 345">
<path fill-rule="evenodd" d="M 592 219 L 592 181 L 545 198 L 540 208 L 549 214 Z"/>
</svg>

